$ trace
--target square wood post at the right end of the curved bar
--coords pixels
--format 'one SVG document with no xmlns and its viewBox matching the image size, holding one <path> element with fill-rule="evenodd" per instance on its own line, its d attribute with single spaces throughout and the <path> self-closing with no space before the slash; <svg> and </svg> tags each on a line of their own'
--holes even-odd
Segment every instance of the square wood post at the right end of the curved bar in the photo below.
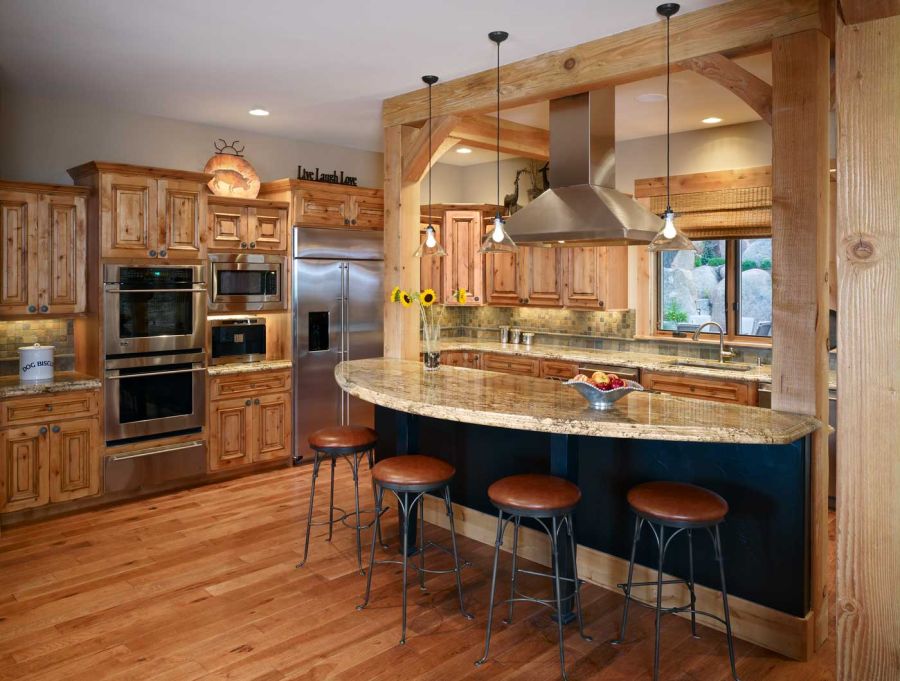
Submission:
<svg viewBox="0 0 900 681">
<path fill-rule="evenodd" d="M 828 423 L 830 42 L 772 41 L 772 408 Z M 828 437 L 810 452 L 810 652 L 828 636 Z"/>
</svg>

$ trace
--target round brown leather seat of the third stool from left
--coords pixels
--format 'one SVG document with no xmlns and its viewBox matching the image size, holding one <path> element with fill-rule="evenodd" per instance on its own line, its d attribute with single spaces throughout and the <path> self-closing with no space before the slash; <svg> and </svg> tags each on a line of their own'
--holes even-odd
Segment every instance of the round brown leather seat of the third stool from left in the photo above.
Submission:
<svg viewBox="0 0 900 681">
<path fill-rule="evenodd" d="M 505 511 L 549 516 L 575 508 L 581 500 L 581 490 L 553 475 L 510 475 L 488 487 L 488 498 Z"/>
</svg>

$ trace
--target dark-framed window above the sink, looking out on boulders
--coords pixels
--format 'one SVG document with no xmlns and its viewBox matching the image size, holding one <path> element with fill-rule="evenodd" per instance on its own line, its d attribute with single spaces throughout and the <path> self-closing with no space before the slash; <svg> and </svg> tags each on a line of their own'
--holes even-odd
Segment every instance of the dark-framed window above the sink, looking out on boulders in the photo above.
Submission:
<svg viewBox="0 0 900 681">
<path fill-rule="evenodd" d="M 699 253 L 657 258 L 657 329 L 692 333 L 717 322 L 728 338 L 772 335 L 772 240 L 706 239 Z M 712 332 L 714 329 L 704 329 Z"/>
</svg>

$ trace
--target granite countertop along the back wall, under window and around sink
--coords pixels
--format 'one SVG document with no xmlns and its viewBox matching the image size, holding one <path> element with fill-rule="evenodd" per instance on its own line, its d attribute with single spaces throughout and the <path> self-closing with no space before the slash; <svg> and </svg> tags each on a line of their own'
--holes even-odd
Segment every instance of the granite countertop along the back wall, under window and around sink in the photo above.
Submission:
<svg viewBox="0 0 900 681">
<path fill-rule="evenodd" d="M 595 350 L 565 345 L 532 345 L 528 347 L 515 343 L 500 343 L 470 338 L 446 340 L 441 343 L 441 350 L 463 350 L 470 352 L 496 352 L 521 357 L 539 359 L 558 359 L 572 362 L 589 362 L 592 364 L 614 364 L 622 367 L 664 371 L 679 376 L 698 376 L 701 378 L 718 378 L 727 381 L 753 381 L 756 383 L 772 382 L 772 367 L 767 364 L 751 366 L 747 371 L 729 371 L 727 369 L 706 369 L 697 366 L 674 364 L 675 361 L 688 359 L 676 355 L 657 355 L 647 352 L 617 352 L 613 350 Z M 703 360 L 701 360 L 703 361 Z M 740 363 L 736 363 L 740 364 Z M 744 365 L 746 366 L 746 365 Z M 836 372 L 828 374 L 828 387 L 837 388 Z"/>
</svg>

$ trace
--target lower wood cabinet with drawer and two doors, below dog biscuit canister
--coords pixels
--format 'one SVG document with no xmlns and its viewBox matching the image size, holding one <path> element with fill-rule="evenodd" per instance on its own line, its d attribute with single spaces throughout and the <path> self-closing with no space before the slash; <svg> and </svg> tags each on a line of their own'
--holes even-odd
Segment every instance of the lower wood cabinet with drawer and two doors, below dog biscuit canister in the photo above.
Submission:
<svg viewBox="0 0 900 681">
<path fill-rule="evenodd" d="M 0 511 L 100 491 L 97 391 L 21 397 L 0 410 Z"/>
</svg>

